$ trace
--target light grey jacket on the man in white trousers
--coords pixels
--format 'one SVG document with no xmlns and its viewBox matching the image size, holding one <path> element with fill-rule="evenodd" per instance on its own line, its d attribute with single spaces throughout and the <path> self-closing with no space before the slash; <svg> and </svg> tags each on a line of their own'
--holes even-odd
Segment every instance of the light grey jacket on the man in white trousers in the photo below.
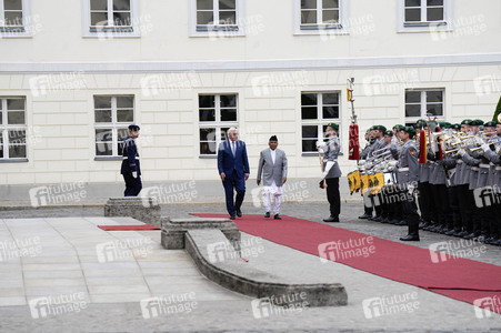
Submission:
<svg viewBox="0 0 501 333">
<path fill-rule="evenodd" d="M 258 180 L 263 176 L 263 185 L 271 186 L 272 181 L 277 186 L 283 185 L 283 178 L 287 178 L 287 157 L 285 152 L 275 149 L 274 164 L 271 159 L 271 150 L 265 149 L 261 151 L 259 157 Z"/>
</svg>

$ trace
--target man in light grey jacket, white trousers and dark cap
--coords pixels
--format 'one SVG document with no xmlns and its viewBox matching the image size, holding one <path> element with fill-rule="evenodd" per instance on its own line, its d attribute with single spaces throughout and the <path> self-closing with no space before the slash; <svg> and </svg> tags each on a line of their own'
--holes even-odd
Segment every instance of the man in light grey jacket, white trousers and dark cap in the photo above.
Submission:
<svg viewBox="0 0 501 333">
<path fill-rule="evenodd" d="M 274 196 L 273 214 L 275 220 L 280 218 L 280 201 L 283 194 L 283 184 L 287 182 L 287 157 L 283 150 L 278 149 L 278 139 L 275 135 L 268 142 L 270 149 L 261 151 L 258 168 L 258 186 L 261 183 L 261 175 L 264 186 L 264 218 L 270 218 L 271 194 Z"/>
</svg>

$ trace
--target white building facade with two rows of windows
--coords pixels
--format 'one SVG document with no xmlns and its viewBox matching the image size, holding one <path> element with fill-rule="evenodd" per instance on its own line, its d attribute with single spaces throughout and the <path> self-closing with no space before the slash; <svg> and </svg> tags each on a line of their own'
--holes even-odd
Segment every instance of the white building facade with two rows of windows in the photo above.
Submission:
<svg viewBox="0 0 501 333">
<path fill-rule="evenodd" d="M 121 195 L 131 123 L 147 192 L 220 200 L 217 147 L 233 125 L 250 189 L 274 134 L 290 191 L 324 195 L 314 142 L 327 123 L 340 124 L 343 174 L 355 169 L 348 78 L 361 133 L 427 113 L 492 118 L 500 12 L 491 0 L 0 0 L 0 198 Z"/>
</svg>

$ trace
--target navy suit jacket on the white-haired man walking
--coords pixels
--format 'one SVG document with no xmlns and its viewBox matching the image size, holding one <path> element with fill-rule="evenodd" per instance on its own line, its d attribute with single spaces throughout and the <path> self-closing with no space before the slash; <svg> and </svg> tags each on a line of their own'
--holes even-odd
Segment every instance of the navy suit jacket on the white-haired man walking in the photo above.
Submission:
<svg viewBox="0 0 501 333">
<path fill-rule="evenodd" d="M 230 140 L 224 140 L 219 144 L 218 150 L 219 174 L 224 172 L 227 176 L 230 176 L 233 173 L 233 170 L 237 170 L 237 175 L 239 178 L 243 178 L 243 174 L 250 173 L 246 142 L 241 140 L 236 141 L 237 149 L 234 157 L 233 152 L 231 151 L 230 142 L 231 142 Z"/>
</svg>

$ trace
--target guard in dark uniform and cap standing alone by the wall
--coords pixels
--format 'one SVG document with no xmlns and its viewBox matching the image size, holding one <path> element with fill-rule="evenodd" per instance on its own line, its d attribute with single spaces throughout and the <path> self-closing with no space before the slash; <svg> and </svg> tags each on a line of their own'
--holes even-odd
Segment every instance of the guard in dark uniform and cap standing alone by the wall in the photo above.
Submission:
<svg viewBox="0 0 501 333">
<path fill-rule="evenodd" d="M 139 153 L 134 139 L 139 137 L 139 127 L 131 124 L 129 127 L 129 137 L 123 141 L 122 147 L 122 168 L 120 173 L 126 181 L 126 196 L 138 196 L 141 192 L 141 168 L 139 165 Z"/>
</svg>

